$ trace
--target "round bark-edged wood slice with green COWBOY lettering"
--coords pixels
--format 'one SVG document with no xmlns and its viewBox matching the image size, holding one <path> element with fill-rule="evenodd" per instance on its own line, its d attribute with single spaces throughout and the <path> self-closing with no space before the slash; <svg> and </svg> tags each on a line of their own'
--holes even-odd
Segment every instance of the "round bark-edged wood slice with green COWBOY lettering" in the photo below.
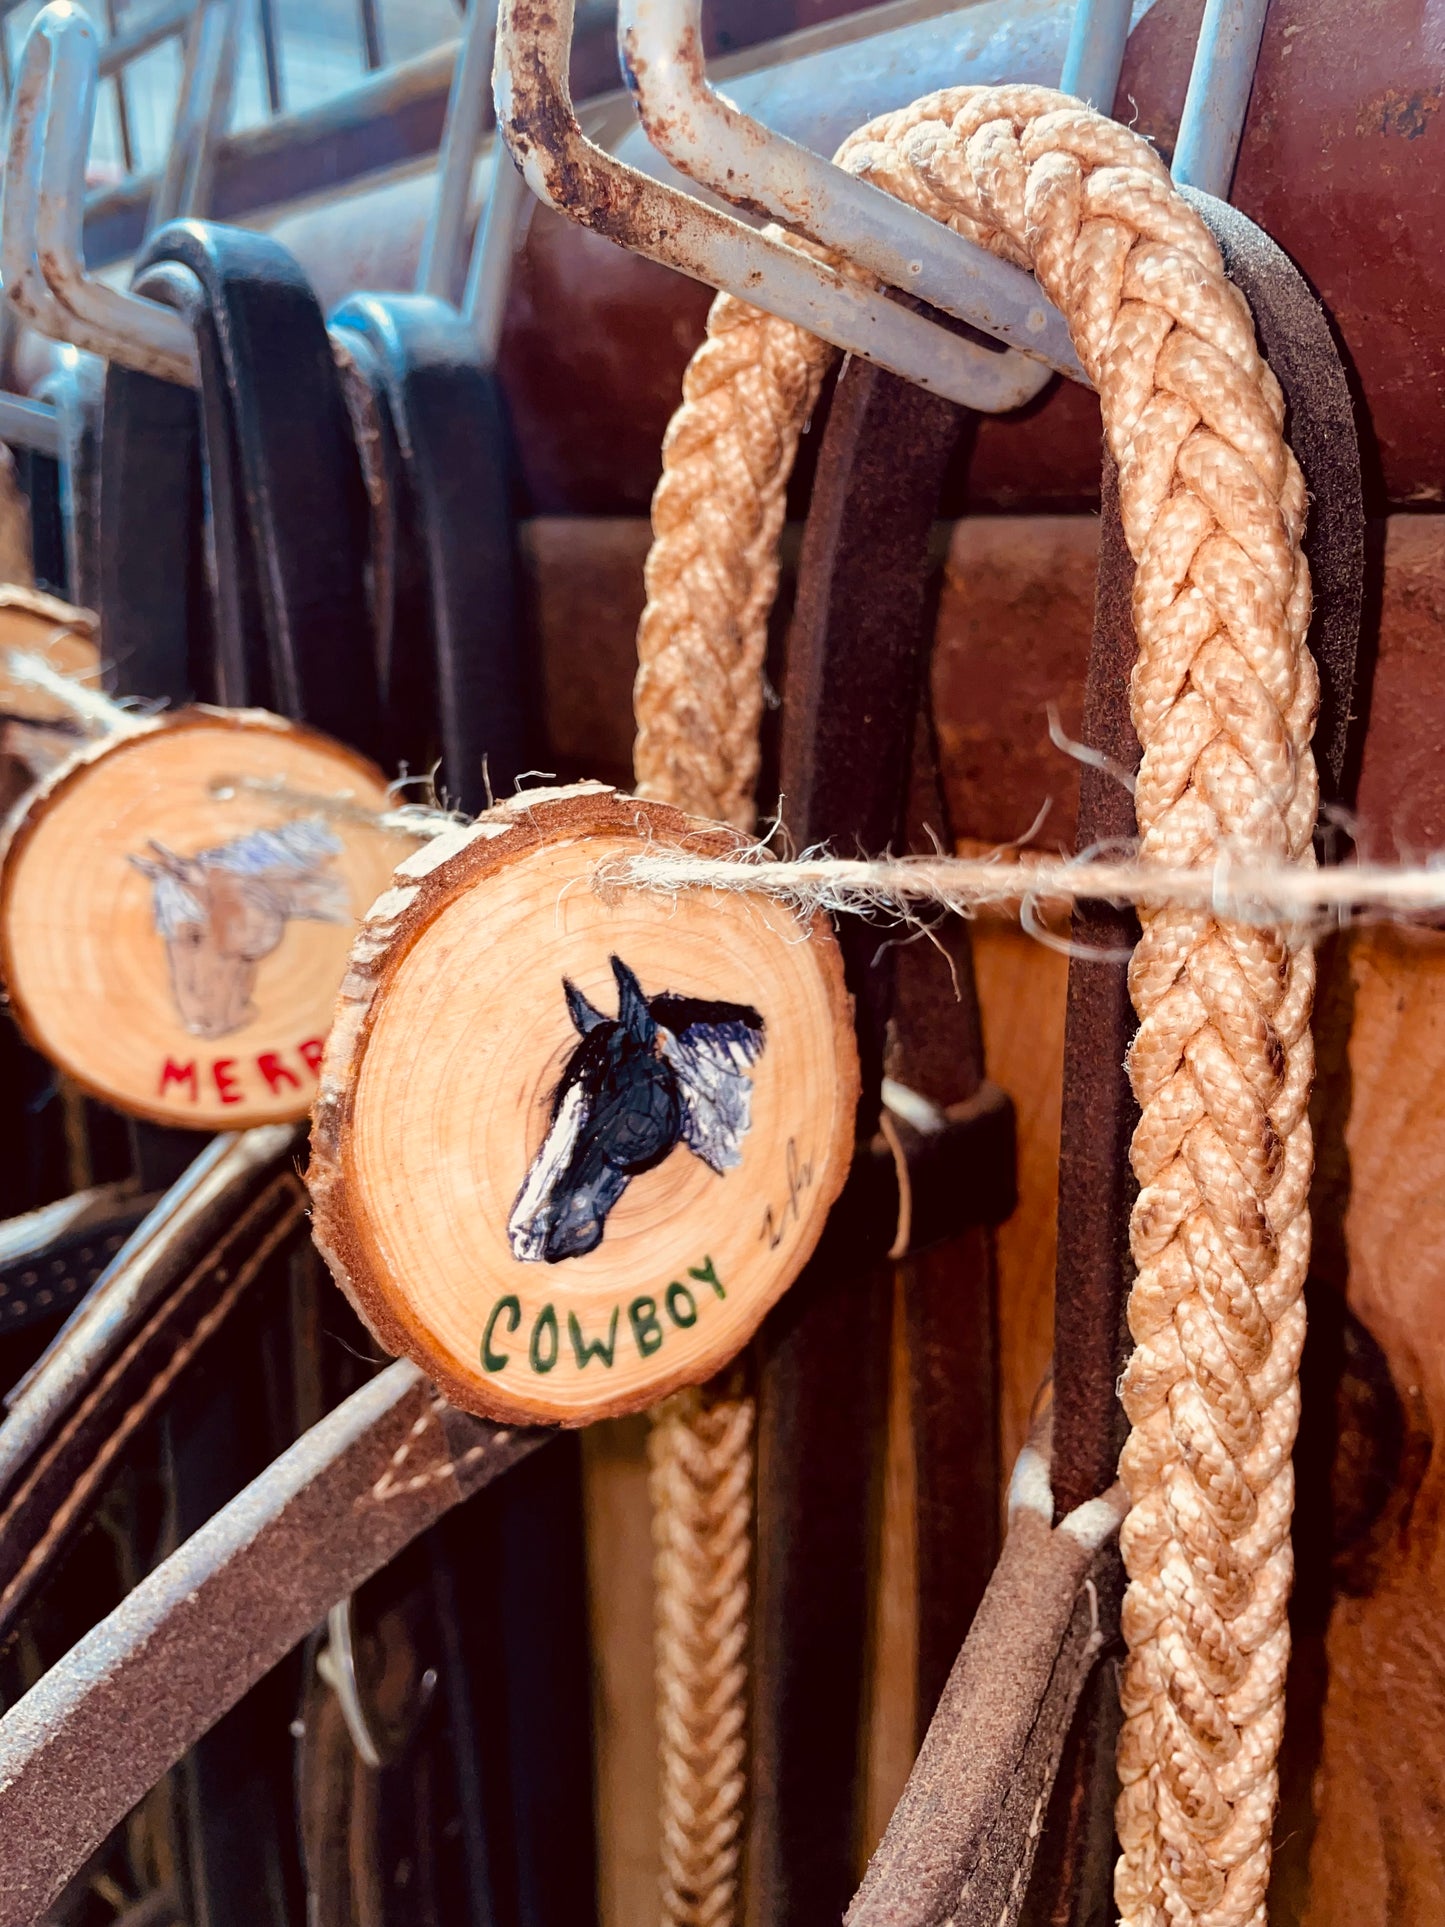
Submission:
<svg viewBox="0 0 1445 1927">
<path fill-rule="evenodd" d="M 532 790 L 372 906 L 312 1123 L 314 1231 L 393 1353 L 568 1426 L 709 1378 L 817 1245 L 854 1150 L 827 917 L 593 886 L 736 838 L 601 784 Z"/>
</svg>

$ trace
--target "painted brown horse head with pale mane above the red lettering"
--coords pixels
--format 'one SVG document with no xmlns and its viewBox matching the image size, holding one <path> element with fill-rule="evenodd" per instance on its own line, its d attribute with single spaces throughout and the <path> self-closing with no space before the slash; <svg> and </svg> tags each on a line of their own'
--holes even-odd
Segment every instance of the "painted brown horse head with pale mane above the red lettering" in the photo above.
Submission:
<svg viewBox="0 0 1445 1927">
<path fill-rule="evenodd" d="M 254 1017 L 256 969 L 291 917 L 351 919 L 345 879 L 326 869 L 341 842 L 324 817 L 249 831 L 195 856 L 158 842 L 150 852 L 131 863 L 150 877 L 171 996 L 193 1037 L 225 1037 Z"/>
</svg>

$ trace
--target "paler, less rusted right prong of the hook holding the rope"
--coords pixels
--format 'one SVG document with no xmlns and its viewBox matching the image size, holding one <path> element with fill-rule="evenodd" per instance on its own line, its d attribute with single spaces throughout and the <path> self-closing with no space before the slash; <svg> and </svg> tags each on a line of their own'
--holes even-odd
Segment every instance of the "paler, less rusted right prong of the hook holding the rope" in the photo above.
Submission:
<svg viewBox="0 0 1445 1927">
<path fill-rule="evenodd" d="M 1033 356 L 1033 368 L 1012 370 L 1019 399 L 1052 368 L 1087 380 L 1064 316 L 1031 274 L 742 114 L 707 85 L 701 48 L 701 0 L 622 0 L 622 67 L 647 139 L 674 166 Z M 988 370 L 992 383 L 1000 372 Z"/>
</svg>

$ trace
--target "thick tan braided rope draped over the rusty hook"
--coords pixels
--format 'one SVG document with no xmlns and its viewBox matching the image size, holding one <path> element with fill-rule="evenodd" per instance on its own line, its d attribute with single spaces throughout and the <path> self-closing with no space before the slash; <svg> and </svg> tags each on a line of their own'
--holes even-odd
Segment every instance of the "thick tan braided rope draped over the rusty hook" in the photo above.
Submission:
<svg viewBox="0 0 1445 1927">
<path fill-rule="evenodd" d="M 1141 856 L 1312 861 L 1304 484 L 1208 229 L 1143 139 L 1037 87 L 931 94 L 838 158 L 1031 268 L 1098 387 L 1137 563 Z M 734 823 L 782 489 L 827 360 L 721 297 L 667 437 L 636 769 L 645 794 Z M 1141 923 L 1116 1900 L 1129 1927 L 1235 1927 L 1266 1917 L 1289 1653 L 1314 965 L 1206 910 Z M 670 1915 L 692 1917 L 726 1914 Z"/>
</svg>

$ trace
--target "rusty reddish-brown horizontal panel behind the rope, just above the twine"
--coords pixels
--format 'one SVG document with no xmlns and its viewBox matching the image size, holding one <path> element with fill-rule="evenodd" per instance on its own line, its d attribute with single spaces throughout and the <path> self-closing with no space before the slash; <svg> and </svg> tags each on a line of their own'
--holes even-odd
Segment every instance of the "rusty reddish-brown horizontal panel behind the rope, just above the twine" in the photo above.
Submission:
<svg viewBox="0 0 1445 1927">
<path fill-rule="evenodd" d="M 626 780 L 647 541 L 642 516 L 524 524 L 547 767 L 566 777 Z M 933 703 L 959 836 L 1008 842 L 1048 802 L 1038 842 L 1073 846 L 1079 765 L 1048 740 L 1048 705 L 1077 738 L 1096 545 L 1090 515 L 977 516 L 948 532 Z M 1372 547 L 1364 640 L 1378 661 L 1356 811 L 1372 854 L 1418 854 L 1445 844 L 1445 516 L 1393 515 Z"/>
</svg>

